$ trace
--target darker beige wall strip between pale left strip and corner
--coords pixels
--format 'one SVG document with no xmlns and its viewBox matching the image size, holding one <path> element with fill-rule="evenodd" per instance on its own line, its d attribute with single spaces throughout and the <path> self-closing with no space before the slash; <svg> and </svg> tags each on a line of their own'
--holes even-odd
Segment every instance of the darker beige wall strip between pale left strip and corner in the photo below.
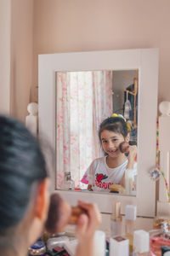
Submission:
<svg viewBox="0 0 170 256">
<path fill-rule="evenodd" d="M 33 60 L 33 0 L 11 5 L 11 114 L 25 120 L 30 102 Z"/>
</svg>

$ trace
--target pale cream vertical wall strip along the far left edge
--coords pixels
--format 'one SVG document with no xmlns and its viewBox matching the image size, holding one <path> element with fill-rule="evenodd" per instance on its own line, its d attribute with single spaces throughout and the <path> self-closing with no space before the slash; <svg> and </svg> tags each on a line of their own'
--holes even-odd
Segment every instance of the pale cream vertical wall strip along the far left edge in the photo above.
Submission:
<svg viewBox="0 0 170 256">
<path fill-rule="evenodd" d="M 0 0 L 0 113 L 10 108 L 11 0 Z"/>
</svg>

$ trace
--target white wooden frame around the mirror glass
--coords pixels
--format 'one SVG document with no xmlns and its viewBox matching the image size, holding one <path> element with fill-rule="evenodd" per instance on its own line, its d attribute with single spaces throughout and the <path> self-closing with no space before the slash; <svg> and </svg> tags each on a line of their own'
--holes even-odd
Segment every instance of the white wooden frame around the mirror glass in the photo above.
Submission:
<svg viewBox="0 0 170 256">
<path fill-rule="evenodd" d="M 137 205 L 138 216 L 154 217 L 156 184 L 148 172 L 156 166 L 156 116 L 158 84 L 158 49 L 124 49 L 39 55 L 39 135 L 46 137 L 55 150 L 55 73 L 58 71 L 139 69 L 138 109 L 138 180 L 137 195 L 59 191 L 71 205 L 77 199 L 95 202 L 101 212 L 111 213 L 113 200 Z M 55 189 L 55 188 L 54 188 Z"/>
</svg>

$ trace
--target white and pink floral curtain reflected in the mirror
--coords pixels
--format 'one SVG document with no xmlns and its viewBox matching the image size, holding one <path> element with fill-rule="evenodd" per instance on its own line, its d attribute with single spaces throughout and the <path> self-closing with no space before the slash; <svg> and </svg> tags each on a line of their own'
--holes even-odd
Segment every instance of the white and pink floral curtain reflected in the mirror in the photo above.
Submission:
<svg viewBox="0 0 170 256">
<path fill-rule="evenodd" d="M 76 186 L 95 158 L 102 155 L 98 130 L 112 113 L 112 72 L 59 72 L 57 86 L 57 187 L 65 172 Z"/>
</svg>

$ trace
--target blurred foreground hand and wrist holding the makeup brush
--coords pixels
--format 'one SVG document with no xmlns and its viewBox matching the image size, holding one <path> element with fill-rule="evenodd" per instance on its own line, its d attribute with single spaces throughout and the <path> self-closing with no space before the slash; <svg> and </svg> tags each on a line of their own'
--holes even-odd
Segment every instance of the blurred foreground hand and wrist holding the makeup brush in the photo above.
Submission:
<svg viewBox="0 0 170 256">
<path fill-rule="evenodd" d="M 75 256 L 93 256 L 94 232 L 101 223 L 101 216 L 94 204 L 78 201 L 78 206 L 85 209 L 88 214 L 82 214 L 77 221 L 76 236 L 79 242 Z"/>
</svg>

